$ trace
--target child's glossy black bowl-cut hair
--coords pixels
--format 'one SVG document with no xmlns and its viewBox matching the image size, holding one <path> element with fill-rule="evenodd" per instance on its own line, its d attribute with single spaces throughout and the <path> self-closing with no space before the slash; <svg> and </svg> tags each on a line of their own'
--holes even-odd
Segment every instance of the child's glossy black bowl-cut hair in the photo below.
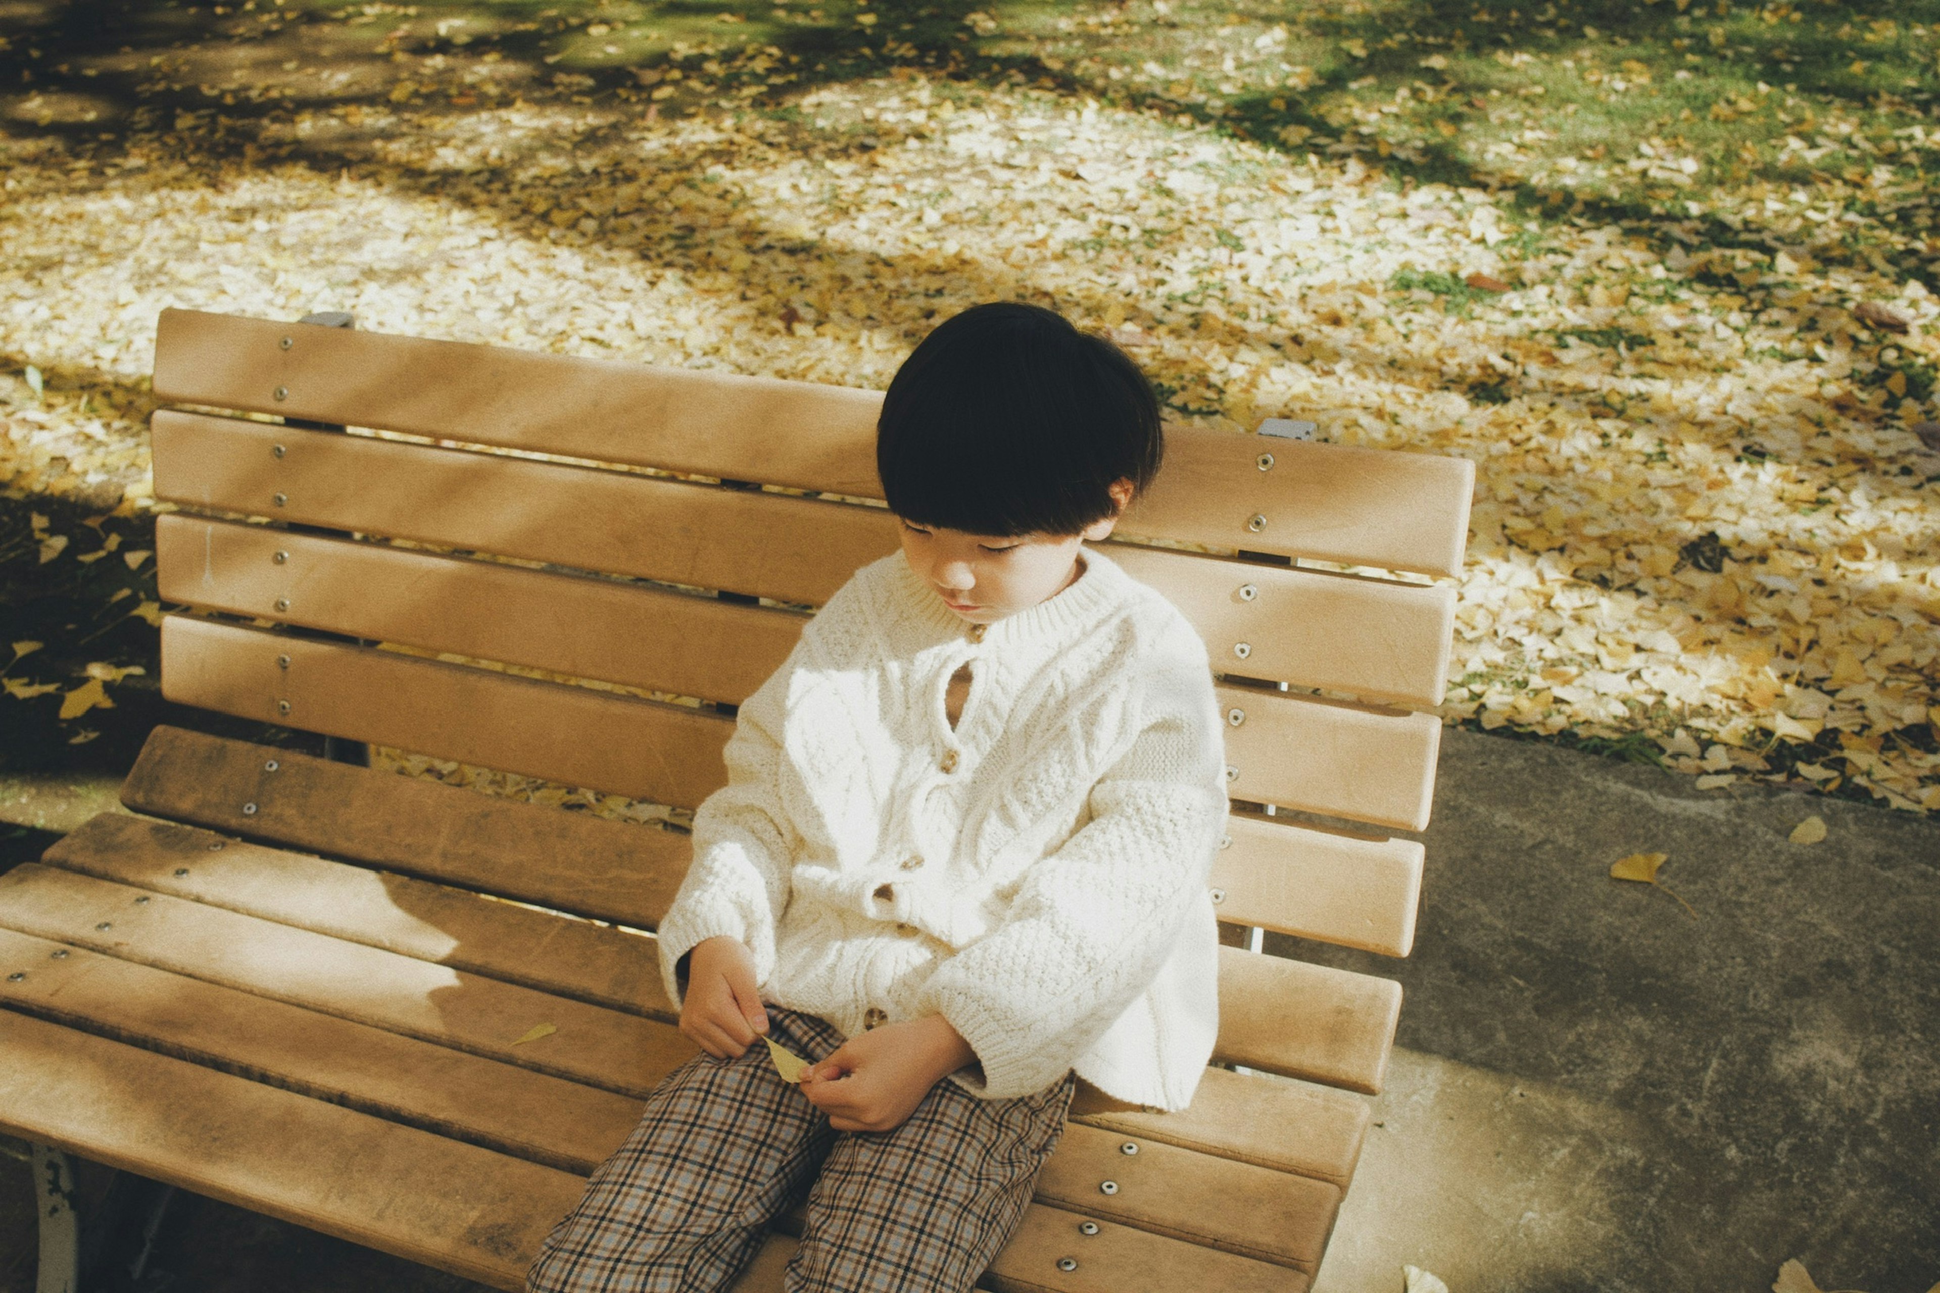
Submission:
<svg viewBox="0 0 1940 1293">
<path fill-rule="evenodd" d="M 875 465 L 896 516 L 974 535 L 1075 535 L 1145 490 L 1164 436 L 1131 359 L 1022 302 L 941 324 L 883 399 Z"/>
</svg>

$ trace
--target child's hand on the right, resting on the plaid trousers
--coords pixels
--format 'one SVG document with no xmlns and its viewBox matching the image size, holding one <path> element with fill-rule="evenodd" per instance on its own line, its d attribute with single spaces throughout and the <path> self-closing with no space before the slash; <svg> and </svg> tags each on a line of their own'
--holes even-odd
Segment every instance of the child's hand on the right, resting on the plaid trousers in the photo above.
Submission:
<svg viewBox="0 0 1940 1293">
<path fill-rule="evenodd" d="M 976 1060 L 941 1014 L 850 1037 L 801 1078 L 801 1093 L 838 1132 L 892 1132 L 941 1078 Z"/>
</svg>

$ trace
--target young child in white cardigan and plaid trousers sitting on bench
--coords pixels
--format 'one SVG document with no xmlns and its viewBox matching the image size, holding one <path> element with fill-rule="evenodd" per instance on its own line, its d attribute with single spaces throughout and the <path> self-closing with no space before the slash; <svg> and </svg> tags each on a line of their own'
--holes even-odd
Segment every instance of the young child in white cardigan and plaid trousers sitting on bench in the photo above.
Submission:
<svg viewBox="0 0 1940 1293">
<path fill-rule="evenodd" d="M 728 1289 L 803 1196 L 788 1293 L 958 1293 L 1075 1080 L 1183 1109 L 1216 1031 L 1226 820 L 1205 646 L 1081 547 L 1162 454 L 1110 341 L 976 306 L 890 382 L 902 551 L 741 706 L 660 925 L 704 1055 L 547 1239 L 535 1293 Z M 762 1037 L 805 1056 L 784 1082 Z"/>
</svg>

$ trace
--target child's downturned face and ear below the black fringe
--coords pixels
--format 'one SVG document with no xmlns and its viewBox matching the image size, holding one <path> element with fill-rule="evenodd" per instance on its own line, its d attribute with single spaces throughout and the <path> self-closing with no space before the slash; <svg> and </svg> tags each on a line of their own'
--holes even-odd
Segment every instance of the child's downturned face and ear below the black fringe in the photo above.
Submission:
<svg viewBox="0 0 1940 1293">
<path fill-rule="evenodd" d="M 1131 483 L 1114 485 L 1112 498 L 1123 512 Z M 993 624 L 1061 593 L 1079 574 L 1079 545 L 1104 539 L 1114 525 L 1116 516 L 1079 535 L 993 537 L 902 521 L 902 552 L 964 622 Z"/>
</svg>

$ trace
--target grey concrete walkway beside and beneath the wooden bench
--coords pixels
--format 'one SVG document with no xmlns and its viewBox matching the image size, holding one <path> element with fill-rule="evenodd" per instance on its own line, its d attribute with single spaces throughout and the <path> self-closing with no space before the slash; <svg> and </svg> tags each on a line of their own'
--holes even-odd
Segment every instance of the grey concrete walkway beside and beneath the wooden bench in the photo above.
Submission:
<svg viewBox="0 0 1940 1293">
<path fill-rule="evenodd" d="M 41 789 L 48 824 L 101 797 Z M 1808 814 L 1826 841 L 1789 843 Z M 1696 917 L 1608 878 L 1637 851 Z M 1763 1293 L 1787 1258 L 1826 1289 L 1940 1281 L 1940 822 L 1449 731 L 1414 956 L 1269 950 L 1408 993 L 1313 1293 L 1401 1293 L 1405 1264 L 1453 1293 Z M 0 1157 L 0 1293 L 33 1287 L 25 1186 Z M 175 1287 L 473 1287 L 175 1217 Z"/>
</svg>

